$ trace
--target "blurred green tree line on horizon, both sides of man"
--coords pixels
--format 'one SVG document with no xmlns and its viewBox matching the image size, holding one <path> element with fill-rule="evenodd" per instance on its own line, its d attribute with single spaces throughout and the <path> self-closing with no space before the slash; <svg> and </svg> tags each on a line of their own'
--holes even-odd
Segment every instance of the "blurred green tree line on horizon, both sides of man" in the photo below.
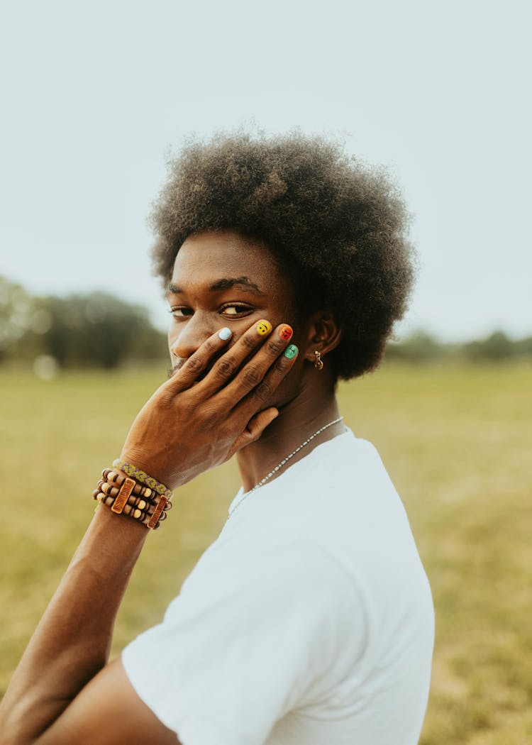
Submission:
<svg viewBox="0 0 532 745">
<path fill-rule="evenodd" d="M 0 277 L 0 364 L 39 358 L 63 367 L 113 369 L 128 361 L 166 359 L 166 335 L 151 324 L 148 311 L 113 295 L 92 292 L 69 297 L 31 297 Z M 473 362 L 532 359 L 532 337 L 511 340 L 494 332 L 484 340 L 440 343 L 416 332 L 390 342 L 387 360 Z"/>
</svg>

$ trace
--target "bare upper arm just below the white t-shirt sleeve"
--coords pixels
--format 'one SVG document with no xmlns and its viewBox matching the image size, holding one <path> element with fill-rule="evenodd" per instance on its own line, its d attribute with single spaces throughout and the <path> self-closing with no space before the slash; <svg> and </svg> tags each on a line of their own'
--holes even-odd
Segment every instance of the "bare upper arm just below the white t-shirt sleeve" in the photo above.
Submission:
<svg viewBox="0 0 532 745">
<path fill-rule="evenodd" d="M 136 694 L 120 659 L 101 670 L 36 745 L 180 745 Z"/>
</svg>

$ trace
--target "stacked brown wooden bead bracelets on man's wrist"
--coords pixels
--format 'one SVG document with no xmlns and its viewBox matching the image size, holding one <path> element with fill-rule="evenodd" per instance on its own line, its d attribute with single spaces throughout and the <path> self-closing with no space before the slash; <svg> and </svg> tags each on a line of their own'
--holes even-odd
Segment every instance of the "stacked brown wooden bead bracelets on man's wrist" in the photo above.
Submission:
<svg viewBox="0 0 532 745">
<path fill-rule="evenodd" d="M 172 506 L 170 489 L 166 489 L 164 485 L 151 479 L 165 490 L 165 494 L 161 494 L 151 486 L 145 486 L 135 478 L 129 478 L 118 469 L 104 469 L 101 475 L 101 480 L 92 492 L 92 498 L 110 507 L 115 514 L 127 515 L 142 522 L 151 530 L 157 530 L 160 527 L 160 523 L 166 519 L 166 513 Z"/>
</svg>

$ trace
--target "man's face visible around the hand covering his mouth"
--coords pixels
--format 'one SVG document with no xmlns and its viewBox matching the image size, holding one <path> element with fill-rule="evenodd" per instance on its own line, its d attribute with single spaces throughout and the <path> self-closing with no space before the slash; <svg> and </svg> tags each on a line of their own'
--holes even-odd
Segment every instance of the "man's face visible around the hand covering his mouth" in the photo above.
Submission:
<svg viewBox="0 0 532 745">
<path fill-rule="evenodd" d="M 236 232 L 202 232 L 186 239 L 174 263 L 168 303 L 174 369 L 223 326 L 231 329 L 234 343 L 259 320 L 268 320 L 273 328 L 289 323 L 298 343 L 291 280 L 282 276 L 267 248 Z M 298 360 L 270 405 L 297 395 L 302 366 L 303 359 Z"/>
</svg>

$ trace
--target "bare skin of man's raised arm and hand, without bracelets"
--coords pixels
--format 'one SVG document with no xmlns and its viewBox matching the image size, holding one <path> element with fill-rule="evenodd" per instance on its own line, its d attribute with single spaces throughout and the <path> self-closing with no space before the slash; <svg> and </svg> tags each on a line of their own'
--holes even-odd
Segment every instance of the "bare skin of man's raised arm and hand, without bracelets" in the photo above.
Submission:
<svg viewBox="0 0 532 745">
<path fill-rule="evenodd" d="M 259 440 L 279 413 L 265 401 L 297 356 L 282 355 L 285 325 L 266 344 L 265 325 L 272 331 L 269 322 L 254 323 L 222 355 L 227 335 L 206 339 L 136 416 L 121 457 L 175 489 Z M 113 489 L 106 500 L 118 500 Z M 151 497 L 151 507 L 162 504 L 158 491 Z M 0 706 L 0 745 L 118 745 L 139 741 L 139 732 L 149 733 L 142 741 L 175 743 L 121 665 L 106 665 L 116 612 L 149 532 L 136 522 L 146 519 L 145 507 L 134 510 L 135 519 L 98 510 Z"/>
</svg>

